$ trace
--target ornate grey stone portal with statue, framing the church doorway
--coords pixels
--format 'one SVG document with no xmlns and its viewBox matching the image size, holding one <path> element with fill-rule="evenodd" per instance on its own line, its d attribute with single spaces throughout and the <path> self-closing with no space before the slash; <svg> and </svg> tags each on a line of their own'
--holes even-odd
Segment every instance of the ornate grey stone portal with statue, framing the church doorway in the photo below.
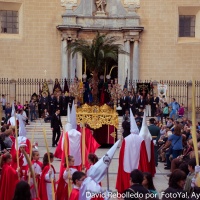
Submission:
<svg viewBox="0 0 200 200">
<path fill-rule="evenodd" d="M 129 55 L 118 56 L 118 80 L 123 85 L 128 79 L 139 79 L 139 41 L 144 27 L 140 26 L 140 17 L 135 10 L 139 0 L 61 0 L 66 7 L 63 24 L 57 29 L 62 34 L 61 77 L 73 79 L 82 77 L 82 58 L 72 58 L 66 53 L 67 45 L 77 39 L 92 40 L 96 31 L 119 36 L 119 44 Z M 128 6 L 127 6 L 128 5 Z"/>
</svg>

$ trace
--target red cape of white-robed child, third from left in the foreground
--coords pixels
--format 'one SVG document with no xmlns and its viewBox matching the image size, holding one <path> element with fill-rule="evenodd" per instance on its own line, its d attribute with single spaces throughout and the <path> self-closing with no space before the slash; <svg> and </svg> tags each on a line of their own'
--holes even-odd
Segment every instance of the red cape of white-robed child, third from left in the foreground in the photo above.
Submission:
<svg viewBox="0 0 200 200">
<path fill-rule="evenodd" d="M 56 173 L 53 165 L 51 165 L 51 167 L 53 168 L 54 173 Z M 49 169 L 50 169 L 50 166 L 47 165 L 42 170 L 42 174 L 41 174 L 41 178 L 40 178 L 40 186 L 39 186 L 39 197 L 41 200 L 48 200 L 45 175 L 48 173 Z M 54 188 L 55 188 L 55 185 L 54 185 Z"/>
</svg>

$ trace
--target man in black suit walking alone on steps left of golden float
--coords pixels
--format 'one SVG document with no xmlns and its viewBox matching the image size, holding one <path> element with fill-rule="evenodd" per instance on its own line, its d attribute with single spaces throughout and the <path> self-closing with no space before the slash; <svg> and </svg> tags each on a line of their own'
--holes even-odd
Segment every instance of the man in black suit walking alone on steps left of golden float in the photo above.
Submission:
<svg viewBox="0 0 200 200">
<path fill-rule="evenodd" d="M 51 118 L 51 129 L 53 131 L 52 147 L 55 147 L 60 139 L 60 128 L 63 129 L 62 122 L 60 120 L 60 110 L 56 109 L 55 114 Z"/>
</svg>

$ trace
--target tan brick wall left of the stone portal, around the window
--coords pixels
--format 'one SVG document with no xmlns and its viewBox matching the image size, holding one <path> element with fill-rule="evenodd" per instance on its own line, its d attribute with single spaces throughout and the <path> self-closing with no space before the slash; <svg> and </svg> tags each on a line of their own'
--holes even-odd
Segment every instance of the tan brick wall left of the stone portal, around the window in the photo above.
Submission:
<svg viewBox="0 0 200 200">
<path fill-rule="evenodd" d="M 2 3 L 9 0 L 0 0 Z M 0 74 L 6 78 L 60 77 L 60 32 L 64 7 L 60 0 L 16 0 L 20 7 L 20 34 L 0 33 Z"/>
</svg>

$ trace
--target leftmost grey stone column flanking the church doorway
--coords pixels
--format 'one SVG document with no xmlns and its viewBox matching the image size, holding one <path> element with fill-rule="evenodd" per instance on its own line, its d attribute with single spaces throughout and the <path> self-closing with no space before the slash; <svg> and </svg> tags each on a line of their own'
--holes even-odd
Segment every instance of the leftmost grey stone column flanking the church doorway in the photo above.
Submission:
<svg viewBox="0 0 200 200">
<path fill-rule="evenodd" d="M 64 38 L 61 43 L 61 78 L 68 78 L 67 40 Z"/>
</svg>

